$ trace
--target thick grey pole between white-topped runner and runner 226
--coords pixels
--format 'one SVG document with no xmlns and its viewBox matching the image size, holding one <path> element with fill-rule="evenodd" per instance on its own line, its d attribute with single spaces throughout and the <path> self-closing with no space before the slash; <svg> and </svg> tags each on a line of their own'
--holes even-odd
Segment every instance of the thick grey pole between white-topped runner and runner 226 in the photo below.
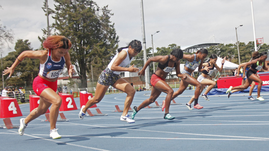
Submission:
<svg viewBox="0 0 269 151">
<path fill-rule="evenodd" d="M 143 10 L 143 0 L 141 0 L 141 21 L 142 21 L 142 36 L 143 36 L 143 50 L 144 50 L 144 64 L 147 62 L 147 50 L 146 50 L 146 37 L 145 37 L 145 23 L 144 23 L 144 10 Z M 146 89 L 149 90 L 149 76 L 148 76 L 148 68 L 145 70 L 145 82 Z"/>
</svg>

